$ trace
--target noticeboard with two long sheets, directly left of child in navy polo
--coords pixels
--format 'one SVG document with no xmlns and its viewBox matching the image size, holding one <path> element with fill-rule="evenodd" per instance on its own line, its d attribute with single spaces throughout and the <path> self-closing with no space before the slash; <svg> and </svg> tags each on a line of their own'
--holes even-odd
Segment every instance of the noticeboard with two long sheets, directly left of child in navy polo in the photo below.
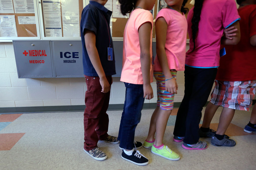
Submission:
<svg viewBox="0 0 256 170">
<path fill-rule="evenodd" d="M 80 20 L 84 6 L 83 0 L 43 0 L 39 5 L 42 39 L 81 39 Z"/>
</svg>

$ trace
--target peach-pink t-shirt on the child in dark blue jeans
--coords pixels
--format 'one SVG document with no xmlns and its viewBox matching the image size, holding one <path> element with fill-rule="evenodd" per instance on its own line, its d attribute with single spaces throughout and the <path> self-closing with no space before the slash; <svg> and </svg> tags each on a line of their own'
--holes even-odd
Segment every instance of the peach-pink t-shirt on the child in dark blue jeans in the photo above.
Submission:
<svg viewBox="0 0 256 170">
<path fill-rule="evenodd" d="M 138 29 L 145 22 L 151 22 L 153 29 L 153 16 L 151 12 L 144 9 L 135 9 L 132 11 L 129 20 L 126 23 L 124 29 L 123 69 L 121 74 L 122 82 L 132 84 L 143 84 L 140 60 L 141 50 Z M 151 83 L 153 82 L 152 29 L 150 35 Z"/>
</svg>

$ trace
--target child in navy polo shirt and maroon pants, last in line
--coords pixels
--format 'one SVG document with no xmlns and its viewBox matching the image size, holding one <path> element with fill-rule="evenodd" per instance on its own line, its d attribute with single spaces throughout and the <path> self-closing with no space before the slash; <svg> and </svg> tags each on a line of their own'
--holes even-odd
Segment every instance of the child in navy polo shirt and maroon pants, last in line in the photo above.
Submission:
<svg viewBox="0 0 256 170">
<path fill-rule="evenodd" d="M 115 72 L 115 56 L 110 32 L 112 11 L 104 7 L 107 0 L 93 0 L 82 11 L 80 31 L 83 36 L 83 69 L 87 91 L 84 110 L 84 151 L 95 160 L 108 156 L 101 151 L 99 140 L 119 143 L 108 135 L 110 85 Z M 110 59 L 109 59 L 110 56 Z M 96 130 L 95 130 L 96 129 Z"/>
</svg>

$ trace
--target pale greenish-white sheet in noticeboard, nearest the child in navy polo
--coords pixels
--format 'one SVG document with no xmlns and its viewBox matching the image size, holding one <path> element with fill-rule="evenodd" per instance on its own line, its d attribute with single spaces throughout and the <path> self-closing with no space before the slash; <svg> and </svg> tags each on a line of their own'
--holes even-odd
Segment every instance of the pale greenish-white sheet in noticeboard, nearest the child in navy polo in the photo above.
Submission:
<svg viewBox="0 0 256 170">
<path fill-rule="evenodd" d="M 80 37 L 78 0 L 61 1 L 63 37 Z"/>
</svg>

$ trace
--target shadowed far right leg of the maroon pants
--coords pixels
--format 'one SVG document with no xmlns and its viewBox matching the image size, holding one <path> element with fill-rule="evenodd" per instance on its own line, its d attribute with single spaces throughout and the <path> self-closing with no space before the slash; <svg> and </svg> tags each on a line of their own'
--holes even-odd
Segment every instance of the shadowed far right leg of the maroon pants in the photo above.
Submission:
<svg viewBox="0 0 256 170">
<path fill-rule="evenodd" d="M 112 76 L 106 76 L 109 84 L 111 85 Z M 106 113 L 109 107 L 109 98 L 110 91 L 105 94 L 105 100 L 103 102 L 101 111 L 100 111 L 100 120 L 98 126 L 96 128 L 96 133 L 98 135 L 99 140 L 104 140 L 108 137 L 108 129 L 109 129 L 109 115 Z"/>
</svg>

